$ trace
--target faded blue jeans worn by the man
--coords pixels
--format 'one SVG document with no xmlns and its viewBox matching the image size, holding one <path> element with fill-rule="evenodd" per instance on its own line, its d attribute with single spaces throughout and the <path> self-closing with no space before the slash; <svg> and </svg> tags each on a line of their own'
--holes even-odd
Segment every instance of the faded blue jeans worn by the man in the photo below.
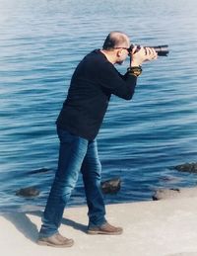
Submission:
<svg viewBox="0 0 197 256">
<path fill-rule="evenodd" d="M 89 226 L 106 222 L 100 189 L 101 165 L 97 140 L 87 140 L 60 128 L 57 128 L 57 133 L 60 139 L 58 169 L 42 216 L 39 235 L 43 237 L 58 232 L 64 208 L 75 188 L 80 171 L 89 208 Z"/>
</svg>

